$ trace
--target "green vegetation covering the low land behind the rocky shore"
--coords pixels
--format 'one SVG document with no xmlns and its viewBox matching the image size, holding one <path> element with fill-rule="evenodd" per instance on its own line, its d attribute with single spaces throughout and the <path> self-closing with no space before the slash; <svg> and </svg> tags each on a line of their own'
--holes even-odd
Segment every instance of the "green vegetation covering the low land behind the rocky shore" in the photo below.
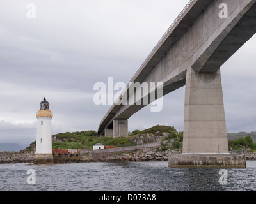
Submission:
<svg viewBox="0 0 256 204">
<path fill-rule="evenodd" d="M 132 133 L 127 138 L 112 138 L 112 137 L 99 137 L 96 131 L 81 131 L 74 133 L 59 133 L 52 135 L 53 149 L 92 149 L 92 146 L 96 143 L 102 143 L 103 145 L 124 147 L 136 145 L 132 142 L 131 138 L 143 135 L 152 134 L 163 136 L 163 133 L 169 133 L 168 136 L 164 136 L 161 142 L 161 149 L 182 149 L 183 142 L 183 132 L 177 133 L 175 128 L 172 126 L 154 126 L 152 128 L 140 131 L 138 129 L 132 131 Z M 253 132 L 254 133 L 254 132 Z M 35 143 L 35 142 L 34 142 Z M 234 139 L 228 140 L 229 150 L 240 151 L 256 151 L 256 143 L 253 142 L 253 138 L 250 135 L 241 136 Z"/>
</svg>

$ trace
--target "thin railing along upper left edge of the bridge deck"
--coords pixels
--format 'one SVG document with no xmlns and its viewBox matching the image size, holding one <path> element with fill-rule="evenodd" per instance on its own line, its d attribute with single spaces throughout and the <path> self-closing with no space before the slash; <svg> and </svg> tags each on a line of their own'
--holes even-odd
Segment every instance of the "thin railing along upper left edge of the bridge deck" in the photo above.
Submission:
<svg viewBox="0 0 256 204">
<path fill-rule="evenodd" d="M 150 57 L 152 57 L 152 54 L 157 50 L 157 48 L 159 47 L 159 45 L 163 42 L 164 38 L 166 38 L 166 36 L 168 35 L 168 33 L 170 32 L 170 30 L 173 28 L 173 26 L 177 23 L 177 21 L 180 19 L 180 17 L 182 16 L 182 14 L 188 9 L 188 7 L 190 6 L 191 3 L 193 3 L 194 0 L 189 0 L 189 3 L 186 4 L 186 6 L 184 7 L 184 9 L 180 12 L 180 14 L 178 15 L 177 18 L 175 18 L 175 20 L 173 21 L 172 25 L 168 28 L 168 30 L 164 33 L 164 35 L 162 36 L 162 38 L 158 41 L 158 43 L 156 44 L 156 46 L 153 48 L 153 50 L 150 52 L 150 54 L 148 55 L 148 57 L 145 59 L 145 61 L 141 64 L 140 68 L 138 69 L 138 71 L 136 71 L 134 77 L 132 77 L 130 82 L 134 81 L 134 78 L 136 77 L 136 75 L 138 75 L 138 73 L 140 72 L 140 70 L 145 66 L 145 64 L 147 63 L 148 59 L 150 59 Z"/>
</svg>

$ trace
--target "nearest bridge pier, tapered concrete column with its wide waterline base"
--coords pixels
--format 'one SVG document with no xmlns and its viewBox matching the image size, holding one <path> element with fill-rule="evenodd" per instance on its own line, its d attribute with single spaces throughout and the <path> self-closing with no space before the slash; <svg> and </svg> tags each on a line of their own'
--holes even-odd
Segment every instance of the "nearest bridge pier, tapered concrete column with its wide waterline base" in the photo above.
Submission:
<svg viewBox="0 0 256 204">
<path fill-rule="evenodd" d="M 186 76 L 182 154 L 170 154 L 168 165 L 177 168 L 245 168 L 246 159 L 228 152 L 227 128 L 220 69 Z"/>
</svg>

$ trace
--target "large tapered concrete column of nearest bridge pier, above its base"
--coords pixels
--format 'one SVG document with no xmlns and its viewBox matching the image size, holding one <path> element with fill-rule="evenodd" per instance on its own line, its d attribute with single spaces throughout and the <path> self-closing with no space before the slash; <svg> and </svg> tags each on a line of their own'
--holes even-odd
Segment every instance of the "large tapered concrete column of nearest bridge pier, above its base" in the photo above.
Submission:
<svg viewBox="0 0 256 204">
<path fill-rule="evenodd" d="M 227 154 L 228 140 L 220 69 L 186 77 L 183 154 Z"/>
</svg>

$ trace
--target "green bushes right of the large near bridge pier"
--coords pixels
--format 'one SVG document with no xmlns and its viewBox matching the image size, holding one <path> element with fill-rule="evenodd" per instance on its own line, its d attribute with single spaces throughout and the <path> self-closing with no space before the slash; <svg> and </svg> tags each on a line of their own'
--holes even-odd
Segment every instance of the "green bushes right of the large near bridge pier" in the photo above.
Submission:
<svg viewBox="0 0 256 204">
<path fill-rule="evenodd" d="M 239 137 L 237 139 L 228 140 L 229 150 L 246 150 L 246 151 L 255 151 L 256 143 L 253 142 L 251 136 L 246 135 L 245 138 Z"/>
</svg>

